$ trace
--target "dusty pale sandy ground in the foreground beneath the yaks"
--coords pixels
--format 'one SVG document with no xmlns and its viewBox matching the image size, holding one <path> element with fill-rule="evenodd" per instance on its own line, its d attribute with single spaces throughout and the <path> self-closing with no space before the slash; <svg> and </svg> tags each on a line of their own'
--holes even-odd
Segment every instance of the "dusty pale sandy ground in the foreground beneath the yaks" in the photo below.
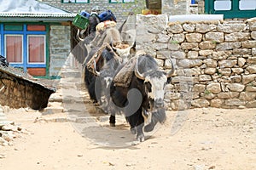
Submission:
<svg viewBox="0 0 256 170">
<path fill-rule="evenodd" d="M 122 121 L 117 127 L 96 122 L 98 131 L 90 130 L 88 122 L 81 131 L 72 122 L 34 122 L 41 116 L 37 111 L 11 110 L 8 119 L 30 133 L 0 148 L 5 156 L 0 169 L 256 168 L 256 109 L 194 109 L 167 115 L 166 123 L 147 134 L 146 141 L 132 145 L 125 143 L 134 136 Z"/>
</svg>

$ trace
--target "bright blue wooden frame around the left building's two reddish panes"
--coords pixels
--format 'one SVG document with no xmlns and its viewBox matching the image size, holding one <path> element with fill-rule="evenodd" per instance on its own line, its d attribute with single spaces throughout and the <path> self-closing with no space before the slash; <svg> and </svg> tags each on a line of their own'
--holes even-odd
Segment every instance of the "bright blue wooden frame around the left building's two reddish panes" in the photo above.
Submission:
<svg viewBox="0 0 256 170">
<path fill-rule="evenodd" d="M 15 26 L 15 25 L 14 25 Z M 16 52 L 12 52 L 12 56 L 15 56 L 14 53 L 19 54 L 19 56 L 21 56 L 21 59 L 13 59 L 13 62 L 9 62 L 9 65 L 14 66 L 14 67 L 19 67 L 22 68 L 24 71 L 27 71 L 27 68 L 45 68 L 47 67 L 47 48 L 46 48 L 46 42 L 47 42 L 47 30 L 45 29 L 45 31 L 27 31 L 27 25 L 26 24 L 17 24 L 17 28 L 15 29 L 15 27 L 9 26 L 9 24 L 0 24 L 0 45 L 1 45 L 1 49 L 0 49 L 0 54 L 5 56 L 7 58 L 7 54 L 8 54 L 8 44 L 7 41 L 9 41 L 10 46 L 17 46 L 17 50 Z M 46 26 L 47 27 L 47 26 Z M 39 60 L 39 62 L 30 62 L 29 61 L 29 57 L 31 56 L 30 51 L 32 51 L 29 48 L 29 38 L 30 37 L 41 37 L 42 42 L 44 42 L 43 49 L 44 51 L 41 52 L 41 54 L 43 54 L 44 56 L 42 56 L 42 60 Z M 9 38 L 9 40 L 8 40 Z M 14 39 L 17 39 L 16 42 L 18 43 L 12 43 L 11 41 Z M 19 41 L 21 42 L 21 50 L 20 50 L 20 45 L 19 45 Z M 18 45 L 17 45 L 18 44 Z M 41 48 L 42 49 L 42 48 Z M 21 53 L 21 54 L 20 54 Z"/>
</svg>

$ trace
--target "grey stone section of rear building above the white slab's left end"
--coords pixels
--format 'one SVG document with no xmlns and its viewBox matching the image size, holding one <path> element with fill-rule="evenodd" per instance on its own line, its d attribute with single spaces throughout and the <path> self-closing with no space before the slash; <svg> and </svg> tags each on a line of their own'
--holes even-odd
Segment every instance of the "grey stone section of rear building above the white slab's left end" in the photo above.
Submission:
<svg viewBox="0 0 256 170">
<path fill-rule="evenodd" d="M 162 14 L 189 14 L 191 0 L 162 0 Z"/>
</svg>

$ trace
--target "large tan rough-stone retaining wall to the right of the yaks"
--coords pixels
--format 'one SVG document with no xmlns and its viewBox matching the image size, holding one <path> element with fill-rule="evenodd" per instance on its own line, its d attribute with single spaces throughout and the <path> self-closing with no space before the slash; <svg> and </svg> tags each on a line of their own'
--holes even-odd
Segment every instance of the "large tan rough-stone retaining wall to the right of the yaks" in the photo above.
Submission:
<svg viewBox="0 0 256 170">
<path fill-rule="evenodd" d="M 137 48 L 163 69 L 176 67 L 166 106 L 256 107 L 256 19 L 168 23 L 166 14 L 137 15 Z"/>
</svg>

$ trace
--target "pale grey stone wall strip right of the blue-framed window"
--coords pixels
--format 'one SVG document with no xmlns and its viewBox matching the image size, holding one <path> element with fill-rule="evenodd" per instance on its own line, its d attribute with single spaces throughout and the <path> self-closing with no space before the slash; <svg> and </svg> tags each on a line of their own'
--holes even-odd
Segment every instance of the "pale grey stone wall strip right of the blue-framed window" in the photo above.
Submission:
<svg viewBox="0 0 256 170">
<path fill-rule="evenodd" d="M 49 76 L 58 77 L 71 52 L 70 26 L 50 26 L 49 35 Z"/>
</svg>

